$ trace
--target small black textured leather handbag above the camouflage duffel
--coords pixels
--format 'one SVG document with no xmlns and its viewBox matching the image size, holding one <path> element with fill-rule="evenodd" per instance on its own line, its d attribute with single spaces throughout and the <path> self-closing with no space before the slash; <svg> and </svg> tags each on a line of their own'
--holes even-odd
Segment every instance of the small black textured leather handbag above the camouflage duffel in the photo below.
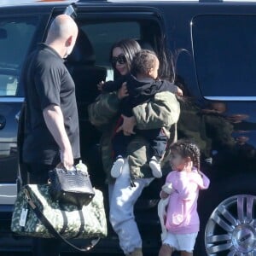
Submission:
<svg viewBox="0 0 256 256">
<path fill-rule="evenodd" d="M 53 200 L 61 203 L 70 203 L 77 207 L 88 205 L 95 191 L 86 166 L 80 162 L 72 170 L 59 165 L 49 171 L 49 194 Z"/>
</svg>

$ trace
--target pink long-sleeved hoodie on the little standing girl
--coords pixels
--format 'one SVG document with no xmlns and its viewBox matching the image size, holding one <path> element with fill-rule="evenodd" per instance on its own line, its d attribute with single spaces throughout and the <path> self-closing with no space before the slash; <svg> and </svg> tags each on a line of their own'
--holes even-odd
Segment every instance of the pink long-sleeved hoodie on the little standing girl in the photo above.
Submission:
<svg viewBox="0 0 256 256">
<path fill-rule="evenodd" d="M 210 180 L 196 169 L 192 172 L 172 171 L 166 177 L 172 183 L 166 215 L 166 229 L 174 234 L 189 234 L 199 231 L 197 198 L 200 189 L 208 189 Z"/>
</svg>

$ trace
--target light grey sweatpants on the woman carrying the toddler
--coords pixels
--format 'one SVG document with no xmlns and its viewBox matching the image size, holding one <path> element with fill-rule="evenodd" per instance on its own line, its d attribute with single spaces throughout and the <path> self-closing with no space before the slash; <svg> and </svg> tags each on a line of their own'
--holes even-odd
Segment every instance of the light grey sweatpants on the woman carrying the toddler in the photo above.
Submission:
<svg viewBox="0 0 256 256">
<path fill-rule="evenodd" d="M 125 160 L 121 175 L 115 183 L 108 185 L 109 220 L 113 230 L 119 236 L 119 246 L 125 254 L 133 252 L 135 248 L 142 248 L 142 239 L 137 228 L 133 209 L 143 189 L 153 179 L 136 179 L 136 187 L 131 187 L 130 170 L 128 162 Z"/>
</svg>

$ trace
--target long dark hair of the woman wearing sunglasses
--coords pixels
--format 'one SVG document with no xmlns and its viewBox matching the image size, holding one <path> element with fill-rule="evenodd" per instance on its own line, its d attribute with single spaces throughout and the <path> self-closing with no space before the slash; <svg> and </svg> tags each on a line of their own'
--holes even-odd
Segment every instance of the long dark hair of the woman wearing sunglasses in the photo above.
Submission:
<svg viewBox="0 0 256 256">
<path fill-rule="evenodd" d="M 113 44 L 113 46 L 110 49 L 110 60 L 112 58 L 113 49 L 119 47 L 123 50 L 125 59 L 127 61 L 128 69 L 131 71 L 131 61 L 134 57 L 134 55 L 141 50 L 140 44 L 137 43 L 135 39 L 131 38 L 125 38 L 120 40 L 119 42 Z M 113 67 L 113 70 L 115 70 L 115 67 Z"/>
</svg>

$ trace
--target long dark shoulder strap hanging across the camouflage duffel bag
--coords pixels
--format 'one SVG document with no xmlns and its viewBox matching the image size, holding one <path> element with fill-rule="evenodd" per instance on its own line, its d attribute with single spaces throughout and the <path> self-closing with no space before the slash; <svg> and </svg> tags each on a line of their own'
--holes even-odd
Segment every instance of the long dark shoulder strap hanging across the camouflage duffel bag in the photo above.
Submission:
<svg viewBox="0 0 256 256">
<path fill-rule="evenodd" d="M 67 243 L 67 245 L 69 245 L 70 247 L 73 247 L 74 249 L 76 249 L 76 250 L 78 250 L 80 252 L 87 252 L 87 251 L 89 251 L 91 248 L 96 246 L 98 241 L 101 240 L 101 237 L 97 237 L 96 239 L 92 239 L 90 241 L 90 244 L 88 246 L 86 246 L 86 247 L 76 247 L 75 245 L 73 245 L 73 243 L 67 241 L 67 239 L 65 237 L 61 236 L 61 234 L 57 230 L 55 230 L 54 226 L 44 216 L 44 213 L 41 212 L 40 209 L 32 201 L 32 198 L 29 195 L 29 192 L 28 192 L 27 189 L 25 189 L 25 193 L 26 193 L 26 201 L 29 204 L 29 206 L 32 208 L 33 212 L 36 213 L 37 217 L 42 221 L 42 223 L 47 228 L 47 230 L 49 230 L 50 234 L 55 236 L 55 238 L 57 238 L 57 239 L 59 239 L 61 241 L 64 241 L 65 243 Z"/>
</svg>

